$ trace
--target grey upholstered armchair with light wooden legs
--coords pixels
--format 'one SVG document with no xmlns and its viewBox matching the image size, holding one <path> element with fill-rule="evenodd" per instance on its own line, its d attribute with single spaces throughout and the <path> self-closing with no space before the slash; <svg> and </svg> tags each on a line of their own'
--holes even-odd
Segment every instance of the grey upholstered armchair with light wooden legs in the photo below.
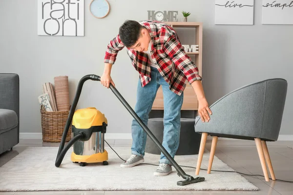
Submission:
<svg viewBox="0 0 293 195">
<path fill-rule="evenodd" d="M 199 174 L 207 136 L 212 136 L 208 174 L 210 174 L 218 137 L 255 140 L 266 181 L 275 176 L 266 141 L 276 141 L 279 136 L 287 81 L 273 78 L 252 83 L 236 89 L 210 106 L 209 122 L 195 118 L 195 132 L 201 133 L 201 144 L 196 166 Z"/>
</svg>

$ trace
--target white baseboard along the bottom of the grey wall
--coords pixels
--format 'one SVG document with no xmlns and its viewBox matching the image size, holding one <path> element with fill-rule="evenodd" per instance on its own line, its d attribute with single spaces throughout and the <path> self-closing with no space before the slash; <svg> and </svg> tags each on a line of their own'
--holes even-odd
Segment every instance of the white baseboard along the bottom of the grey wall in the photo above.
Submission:
<svg viewBox="0 0 293 195">
<path fill-rule="evenodd" d="M 42 139 L 42 133 L 20 133 L 20 138 Z M 105 139 L 132 139 L 132 136 L 131 133 L 106 133 Z M 211 137 L 208 136 L 208 139 L 211 139 Z M 230 138 L 221 137 L 221 139 L 229 140 Z M 293 135 L 279 135 L 278 141 L 293 141 Z"/>
</svg>

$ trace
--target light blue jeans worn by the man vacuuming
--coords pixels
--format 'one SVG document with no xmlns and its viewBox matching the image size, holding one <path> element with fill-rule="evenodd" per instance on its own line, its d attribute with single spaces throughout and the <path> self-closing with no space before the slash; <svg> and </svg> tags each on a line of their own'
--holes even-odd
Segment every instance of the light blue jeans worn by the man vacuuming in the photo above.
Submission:
<svg viewBox="0 0 293 195">
<path fill-rule="evenodd" d="M 134 111 L 147 125 L 148 114 L 151 111 L 152 104 L 160 85 L 163 89 L 164 97 L 164 135 L 163 147 L 174 158 L 179 146 L 180 136 L 180 117 L 181 107 L 183 103 L 183 93 L 181 96 L 170 91 L 169 84 L 164 80 L 156 68 L 151 67 L 151 81 L 142 87 L 140 79 L 137 87 L 137 101 Z M 132 146 L 131 154 L 137 156 L 145 156 L 146 148 L 146 132 L 133 118 L 131 125 Z M 161 153 L 159 163 L 171 164 L 166 156 Z"/>
</svg>

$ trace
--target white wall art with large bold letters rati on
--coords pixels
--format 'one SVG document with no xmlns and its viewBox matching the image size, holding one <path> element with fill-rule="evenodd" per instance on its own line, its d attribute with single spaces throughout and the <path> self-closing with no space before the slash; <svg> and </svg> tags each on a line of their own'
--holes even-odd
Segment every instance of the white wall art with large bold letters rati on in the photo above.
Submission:
<svg viewBox="0 0 293 195">
<path fill-rule="evenodd" d="M 84 0 L 38 0 L 38 35 L 84 36 Z"/>
</svg>

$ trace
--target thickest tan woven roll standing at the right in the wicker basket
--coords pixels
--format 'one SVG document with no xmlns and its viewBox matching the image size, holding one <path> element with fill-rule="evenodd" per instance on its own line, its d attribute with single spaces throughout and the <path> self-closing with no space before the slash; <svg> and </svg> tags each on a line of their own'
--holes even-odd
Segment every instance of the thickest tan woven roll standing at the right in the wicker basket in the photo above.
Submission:
<svg viewBox="0 0 293 195">
<path fill-rule="evenodd" d="M 68 77 L 59 76 L 54 78 L 55 94 L 58 111 L 69 111 L 69 86 Z"/>
</svg>

